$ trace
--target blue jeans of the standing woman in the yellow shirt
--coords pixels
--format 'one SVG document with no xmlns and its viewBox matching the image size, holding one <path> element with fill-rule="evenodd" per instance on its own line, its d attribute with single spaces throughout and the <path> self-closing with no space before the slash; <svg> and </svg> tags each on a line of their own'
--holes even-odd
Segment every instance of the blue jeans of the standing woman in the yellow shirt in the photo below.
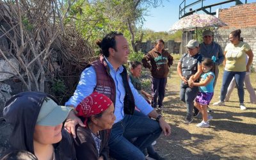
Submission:
<svg viewBox="0 0 256 160">
<path fill-rule="evenodd" d="M 237 93 L 239 97 L 239 102 L 244 102 L 244 77 L 246 72 L 232 72 L 224 70 L 223 77 L 222 77 L 222 86 L 220 91 L 220 100 L 221 102 L 224 102 L 225 97 L 227 95 L 228 85 L 232 81 L 233 77 L 235 77 L 236 80 L 236 87 L 237 87 Z"/>
</svg>

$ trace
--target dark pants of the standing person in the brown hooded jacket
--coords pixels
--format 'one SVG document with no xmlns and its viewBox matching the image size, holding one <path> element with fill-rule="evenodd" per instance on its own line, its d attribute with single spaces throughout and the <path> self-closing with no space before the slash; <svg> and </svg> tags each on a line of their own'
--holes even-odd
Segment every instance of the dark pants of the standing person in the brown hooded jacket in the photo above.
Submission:
<svg viewBox="0 0 256 160">
<path fill-rule="evenodd" d="M 151 101 L 151 105 L 153 108 L 157 108 L 157 104 L 158 106 L 163 106 L 166 83 L 167 83 L 167 77 L 165 78 L 152 77 L 151 89 L 152 89 L 153 99 Z M 158 101 L 157 101 L 157 97 L 158 97 Z"/>
</svg>

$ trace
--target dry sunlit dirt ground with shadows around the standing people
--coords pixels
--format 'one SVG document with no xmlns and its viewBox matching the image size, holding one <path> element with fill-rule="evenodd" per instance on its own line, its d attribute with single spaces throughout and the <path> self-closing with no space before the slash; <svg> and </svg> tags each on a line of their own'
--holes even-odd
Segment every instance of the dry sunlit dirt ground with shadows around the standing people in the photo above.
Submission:
<svg viewBox="0 0 256 160">
<path fill-rule="evenodd" d="M 177 60 L 175 60 L 177 61 Z M 202 116 L 189 125 L 182 123 L 186 107 L 179 100 L 180 79 L 176 72 L 177 62 L 172 67 L 164 98 L 164 118 L 172 127 L 172 134 L 161 136 L 155 146 L 157 152 L 166 159 L 256 159 L 256 104 L 250 104 L 245 90 L 246 111 L 241 111 L 236 88 L 226 106 L 212 106 L 214 119 L 211 127 L 201 129 L 195 125 Z M 220 68 L 214 97 L 218 100 L 223 68 Z M 251 74 L 253 88 L 256 88 L 256 74 Z M 211 104 L 212 104 L 211 102 Z"/>
</svg>

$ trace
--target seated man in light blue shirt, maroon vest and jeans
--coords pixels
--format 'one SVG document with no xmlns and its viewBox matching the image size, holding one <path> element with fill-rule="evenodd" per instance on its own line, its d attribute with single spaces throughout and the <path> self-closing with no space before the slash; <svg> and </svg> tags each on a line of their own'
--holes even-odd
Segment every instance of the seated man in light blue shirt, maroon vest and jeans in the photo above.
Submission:
<svg viewBox="0 0 256 160">
<path fill-rule="evenodd" d="M 129 55 L 129 44 L 124 35 L 112 31 L 97 41 L 97 45 L 102 56 L 83 70 L 74 95 L 65 105 L 76 107 L 93 91 L 109 97 L 114 103 L 116 116 L 108 143 L 110 156 L 115 159 L 144 160 L 142 151 L 151 145 L 162 131 L 164 135 L 169 135 L 170 125 L 131 84 L 124 66 Z M 154 119 L 134 116 L 135 106 L 141 113 Z M 74 126 L 69 128 L 71 130 Z M 134 143 L 129 141 L 132 138 L 137 138 Z"/>
</svg>

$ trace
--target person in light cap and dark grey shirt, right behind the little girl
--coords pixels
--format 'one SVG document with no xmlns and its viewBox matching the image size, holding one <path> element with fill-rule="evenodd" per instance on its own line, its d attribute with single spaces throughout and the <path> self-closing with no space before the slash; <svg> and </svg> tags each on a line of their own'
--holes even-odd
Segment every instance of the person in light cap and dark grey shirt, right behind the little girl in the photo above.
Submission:
<svg viewBox="0 0 256 160">
<path fill-rule="evenodd" d="M 202 74 L 202 56 L 199 54 L 199 43 L 196 40 L 190 40 L 186 45 L 188 53 L 182 55 L 177 65 L 177 72 L 181 79 L 180 100 L 186 103 L 187 115 L 185 124 L 190 124 L 193 120 L 194 99 L 198 92 L 198 87 L 189 87 L 188 81 L 198 81 Z"/>
</svg>

